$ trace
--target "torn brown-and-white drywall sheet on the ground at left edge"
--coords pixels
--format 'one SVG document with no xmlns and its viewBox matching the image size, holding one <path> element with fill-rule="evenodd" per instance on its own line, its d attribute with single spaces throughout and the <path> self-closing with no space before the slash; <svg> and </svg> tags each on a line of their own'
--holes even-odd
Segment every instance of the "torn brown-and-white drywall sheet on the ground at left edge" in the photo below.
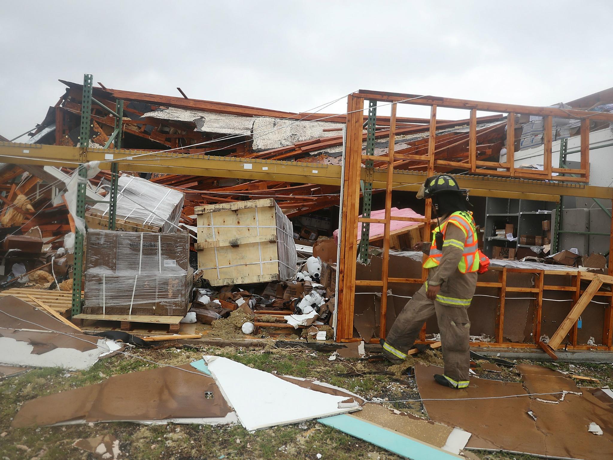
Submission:
<svg viewBox="0 0 613 460">
<path fill-rule="evenodd" d="M 0 364 L 89 369 L 103 356 L 123 349 L 113 340 L 75 329 L 17 297 L 0 299 Z"/>
</svg>

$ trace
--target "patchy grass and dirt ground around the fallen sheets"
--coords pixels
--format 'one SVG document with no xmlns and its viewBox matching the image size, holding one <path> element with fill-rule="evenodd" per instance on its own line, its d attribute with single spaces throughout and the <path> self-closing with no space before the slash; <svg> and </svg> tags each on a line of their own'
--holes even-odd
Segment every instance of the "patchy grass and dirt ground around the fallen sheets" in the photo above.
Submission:
<svg viewBox="0 0 613 460">
<path fill-rule="evenodd" d="M 235 359 L 247 366 L 278 374 L 318 378 L 332 385 L 349 389 L 368 400 L 376 399 L 388 407 L 425 416 L 419 402 L 392 402 L 417 399 L 419 393 L 412 369 L 398 372 L 389 369 L 387 361 L 343 359 L 329 361 L 330 353 L 308 348 L 275 348 L 271 342 L 266 348 L 234 347 L 169 347 L 136 349 L 131 353 L 163 364 L 185 364 L 202 355 L 218 355 Z M 416 359 L 436 362 L 439 352 L 432 351 Z M 527 362 L 527 361 L 517 361 Z M 595 377 L 600 386 L 613 385 L 611 364 L 549 363 L 554 369 Z M 157 367 L 139 358 L 119 355 L 102 359 L 91 369 L 69 372 L 63 369 L 33 369 L 17 377 L 0 381 L 0 460 L 65 460 L 93 459 L 93 454 L 72 444 L 77 439 L 114 435 L 120 442 L 123 459 L 398 459 L 370 443 L 343 434 L 315 421 L 248 432 L 240 426 L 199 426 L 185 424 L 140 425 L 135 423 L 97 423 L 64 427 L 32 427 L 12 429 L 11 420 L 20 406 L 29 399 L 71 388 L 99 383 L 116 374 Z M 396 372 L 394 372 L 396 371 Z M 519 381 L 514 369 L 502 373 L 476 369 L 480 377 L 494 380 Z M 249 391 L 248 382 L 245 390 Z M 596 385 L 577 380 L 579 386 Z M 483 460 L 531 460 L 536 457 L 517 454 L 475 451 Z"/>
</svg>

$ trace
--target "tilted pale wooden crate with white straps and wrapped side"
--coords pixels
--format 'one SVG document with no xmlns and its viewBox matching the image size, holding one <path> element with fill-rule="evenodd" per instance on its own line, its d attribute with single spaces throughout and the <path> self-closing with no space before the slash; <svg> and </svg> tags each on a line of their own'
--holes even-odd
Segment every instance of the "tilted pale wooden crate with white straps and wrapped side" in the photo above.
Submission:
<svg viewBox="0 0 613 460">
<path fill-rule="evenodd" d="M 294 277 L 292 224 L 272 198 L 194 208 L 198 268 L 213 286 Z"/>
</svg>

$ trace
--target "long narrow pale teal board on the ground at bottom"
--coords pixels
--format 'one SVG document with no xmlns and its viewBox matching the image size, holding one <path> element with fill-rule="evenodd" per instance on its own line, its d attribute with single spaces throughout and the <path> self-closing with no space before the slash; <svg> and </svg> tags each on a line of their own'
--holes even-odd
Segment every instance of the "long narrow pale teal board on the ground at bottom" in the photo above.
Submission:
<svg viewBox="0 0 613 460">
<path fill-rule="evenodd" d="M 459 455 L 446 452 L 441 448 L 351 414 L 320 418 L 318 422 L 411 460 L 463 459 Z"/>
</svg>

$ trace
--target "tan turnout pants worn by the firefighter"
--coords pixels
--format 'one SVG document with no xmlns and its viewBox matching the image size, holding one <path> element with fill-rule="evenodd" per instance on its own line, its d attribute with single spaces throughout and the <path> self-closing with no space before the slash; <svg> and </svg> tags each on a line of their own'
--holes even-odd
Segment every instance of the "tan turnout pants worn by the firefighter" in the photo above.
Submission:
<svg viewBox="0 0 613 460">
<path fill-rule="evenodd" d="M 452 307 L 431 301 L 422 286 L 396 318 L 386 337 L 386 343 L 406 353 L 417 340 L 425 321 L 436 312 L 438 328 L 441 331 L 444 374 L 455 381 L 468 381 L 470 369 L 470 321 L 467 307 Z"/>
</svg>

